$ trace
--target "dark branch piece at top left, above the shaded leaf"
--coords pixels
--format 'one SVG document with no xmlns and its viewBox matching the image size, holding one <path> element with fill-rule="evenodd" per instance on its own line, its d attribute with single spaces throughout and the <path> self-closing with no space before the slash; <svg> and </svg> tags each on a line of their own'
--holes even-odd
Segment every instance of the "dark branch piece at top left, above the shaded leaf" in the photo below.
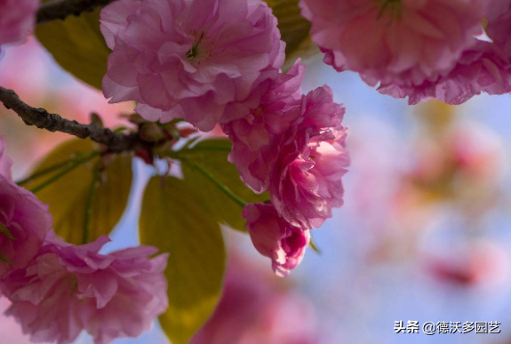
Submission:
<svg viewBox="0 0 511 344">
<path fill-rule="evenodd" d="M 52 20 L 65 20 L 69 15 L 92 11 L 95 7 L 105 6 L 114 0 L 52 0 L 41 4 L 37 12 L 37 24 Z"/>
</svg>

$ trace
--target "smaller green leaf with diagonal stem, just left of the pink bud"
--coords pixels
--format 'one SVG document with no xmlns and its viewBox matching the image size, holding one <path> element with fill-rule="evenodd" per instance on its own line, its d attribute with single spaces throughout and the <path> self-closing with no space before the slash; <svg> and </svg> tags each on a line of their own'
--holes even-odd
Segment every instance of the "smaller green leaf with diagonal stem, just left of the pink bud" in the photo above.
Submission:
<svg viewBox="0 0 511 344">
<path fill-rule="evenodd" d="M 231 147 L 232 143 L 227 139 L 204 140 L 193 148 L 180 150 L 179 155 L 211 173 L 215 179 L 245 203 L 267 201 L 269 199 L 267 193 L 255 194 L 251 188 L 244 185 L 236 166 L 228 162 L 228 153 Z M 210 178 L 193 165 L 183 162 L 181 169 L 185 183 L 200 199 L 204 212 L 208 212 L 220 223 L 244 231 L 243 206 L 226 195 Z"/>
</svg>

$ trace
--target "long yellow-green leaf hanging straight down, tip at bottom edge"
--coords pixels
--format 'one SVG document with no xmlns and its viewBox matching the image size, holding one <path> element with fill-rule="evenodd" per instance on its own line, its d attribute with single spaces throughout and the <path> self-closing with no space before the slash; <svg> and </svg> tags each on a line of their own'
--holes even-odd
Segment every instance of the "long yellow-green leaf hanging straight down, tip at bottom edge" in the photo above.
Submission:
<svg viewBox="0 0 511 344">
<path fill-rule="evenodd" d="M 149 181 L 140 241 L 169 252 L 169 308 L 160 324 L 173 344 L 186 344 L 208 319 L 222 289 L 226 252 L 220 227 L 183 180 Z"/>
</svg>

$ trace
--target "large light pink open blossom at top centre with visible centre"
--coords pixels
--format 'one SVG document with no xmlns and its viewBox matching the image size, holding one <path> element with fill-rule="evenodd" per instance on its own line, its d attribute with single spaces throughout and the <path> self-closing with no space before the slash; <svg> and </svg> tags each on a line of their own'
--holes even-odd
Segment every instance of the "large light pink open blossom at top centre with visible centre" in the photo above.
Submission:
<svg viewBox="0 0 511 344">
<path fill-rule="evenodd" d="M 150 121 L 210 131 L 283 64 L 276 19 L 260 0 L 120 0 L 101 11 L 113 50 L 103 92 Z M 256 103 L 259 100 L 252 100 Z"/>
</svg>

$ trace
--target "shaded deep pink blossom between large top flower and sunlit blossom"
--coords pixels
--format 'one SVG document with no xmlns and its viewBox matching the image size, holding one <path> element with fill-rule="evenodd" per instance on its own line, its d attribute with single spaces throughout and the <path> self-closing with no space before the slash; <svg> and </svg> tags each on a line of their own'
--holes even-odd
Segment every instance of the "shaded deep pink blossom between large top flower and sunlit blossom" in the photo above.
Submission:
<svg viewBox="0 0 511 344">
<path fill-rule="evenodd" d="M 275 147 L 280 136 L 287 130 L 295 113 L 288 113 L 299 106 L 301 82 L 305 66 L 298 60 L 287 74 L 268 79 L 254 90 L 260 99 L 254 108 L 239 110 L 244 104 L 237 104 L 236 114 L 247 114 L 243 118 L 222 124 L 222 130 L 233 141 L 228 156 L 236 164 L 242 180 L 254 191 L 267 189 L 268 172 L 275 161 Z M 259 93 L 263 93 L 262 97 Z M 291 115 L 291 116 L 289 116 Z"/>
</svg>

